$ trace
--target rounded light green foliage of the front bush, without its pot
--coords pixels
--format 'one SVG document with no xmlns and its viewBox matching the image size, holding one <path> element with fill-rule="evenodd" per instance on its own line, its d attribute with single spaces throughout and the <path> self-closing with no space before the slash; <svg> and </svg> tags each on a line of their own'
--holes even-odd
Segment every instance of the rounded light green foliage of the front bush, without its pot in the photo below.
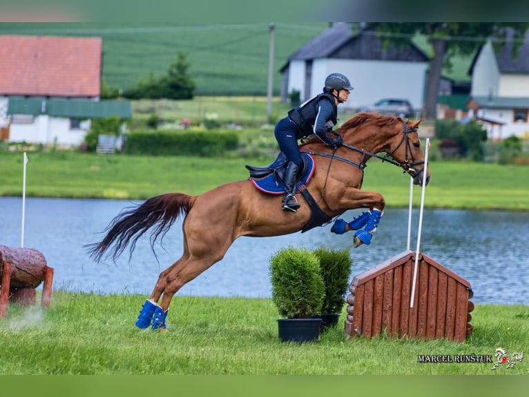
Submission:
<svg viewBox="0 0 529 397">
<path fill-rule="evenodd" d="M 309 318 L 320 313 L 325 295 L 320 263 L 313 252 L 284 248 L 270 259 L 272 300 L 280 315 Z"/>
</svg>

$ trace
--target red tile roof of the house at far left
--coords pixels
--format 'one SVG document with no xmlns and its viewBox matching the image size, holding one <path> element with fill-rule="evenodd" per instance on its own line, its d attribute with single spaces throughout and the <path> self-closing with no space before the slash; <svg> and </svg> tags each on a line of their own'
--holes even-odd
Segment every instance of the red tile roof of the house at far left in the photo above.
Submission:
<svg viewBox="0 0 529 397">
<path fill-rule="evenodd" d="M 0 95 L 99 97 L 102 39 L 0 35 Z"/>
</svg>

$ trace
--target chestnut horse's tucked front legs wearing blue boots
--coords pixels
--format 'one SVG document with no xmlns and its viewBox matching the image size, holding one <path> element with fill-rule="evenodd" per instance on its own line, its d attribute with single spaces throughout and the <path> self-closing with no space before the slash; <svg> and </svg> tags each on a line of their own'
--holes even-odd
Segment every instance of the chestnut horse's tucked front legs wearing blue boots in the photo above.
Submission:
<svg viewBox="0 0 529 397">
<path fill-rule="evenodd" d="M 340 200 L 340 205 L 347 205 L 350 210 L 367 207 L 368 211 L 363 212 L 352 221 L 336 219 L 331 228 L 331 232 L 343 234 L 351 230 L 357 230 L 354 234 L 354 247 L 362 244 L 369 245 L 378 223 L 380 223 L 385 207 L 384 197 L 380 193 L 354 190 L 350 194 L 344 194 Z"/>
</svg>

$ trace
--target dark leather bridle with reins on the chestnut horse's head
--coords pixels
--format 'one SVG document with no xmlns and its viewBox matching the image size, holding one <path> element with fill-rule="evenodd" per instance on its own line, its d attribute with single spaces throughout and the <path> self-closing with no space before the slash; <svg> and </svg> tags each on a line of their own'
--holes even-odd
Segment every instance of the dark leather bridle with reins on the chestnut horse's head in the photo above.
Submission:
<svg viewBox="0 0 529 397">
<path fill-rule="evenodd" d="M 378 158 L 379 160 L 382 160 L 383 163 L 387 162 L 387 163 L 396 165 L 397 167 L 401 167 L 404 170 L 404 172 L 410 172 L 410 169 L 411 169 L 414 172 L 413 178 L 416 178 L 416 176 L 419 176 L 422 172 L 424 172 L 424 167 L 422 167 L 419 171 L 416 171 L 416 169 L 414 169 L 414 167 L 416 167 L 416 165 L 424 165 L 424 161 L 423 160 L 415 161 L 414 156 L 412 154 L 412 147 L 410 146 L 410 137 L 409 137 L 408 134 L 410 132 L 416 132 L 416 131 L 417 131 L 417 127 L 414 127 L 412 129 L 408 129 L 406 120 L 403 120 L 403 134 L 402 134 L 401 142 L 398 142 L 398 145 L 396 145 L 395 149 L 393 149 L 390 153 L 385 154 L 385 156 L 380 156 L 378 154 L 372 153 L 372 152 L 367 151 L 365 149 L 360 149 L 360 147 L 356 147 L 356 146 L 353 146 L 353 145 L 347 145 L 347 143 L 342 143 L 341 146 L 347 147 L 347 149 L 358 151 L 358 153 L 362 154 L 362 158 L 360 159 L 360 163 L 355 163 L 354 161 L 349 160 L 347 158 L 336 156 L 336 149 L 337 149 L 336 147 L 334 148 L 332 154 L 315 153 L 315 152 L 312 152 L 312 151 L 310 151 L 309 153 L 317 155 L 317 156 L 328 157 L 328 158 L 331 158 L 331 160 L 336 158 L 336 160 L 340 160 L 343 163 L 347 163 L 349 165 L 357 167 L 358 169 L 360 169 L 362 171 L 367 166 L 365 164 L 365 161 L 366 161 L 365 157 L 366 156 L 375 157 L 375 158 Z M 332 131 L 332 133 L 335 133 L 336 135 L 338 135 L 338 133 L 336 133 L 335 131 Z M 405 144 L 404 163 L 398 163 L 398 161 L 396 161 L 392 157 L 392 155 L 398 150 L 399 147 L 401 147 L 401 145 L 403 143 Z M 412 160 L 411 163 L 410 163 L 410 156 L 411 156 L 411 160 Z"/>
</svg>

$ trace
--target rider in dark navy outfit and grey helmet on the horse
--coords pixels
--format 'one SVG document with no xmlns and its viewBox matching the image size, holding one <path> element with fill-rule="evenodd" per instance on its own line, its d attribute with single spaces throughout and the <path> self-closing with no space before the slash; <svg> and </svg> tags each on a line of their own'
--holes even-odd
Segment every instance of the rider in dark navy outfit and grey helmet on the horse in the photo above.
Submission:
<svg viewBox="0 0 529 397">
<path fill-rule="evenodd" d="M 338 104 L 347 101 L 352 90 L 351 83 L 341 73 L 331 73 L 325 79 L 323 93 L 320 93 L 298 107 L 291 109 L 288 117 L 279 120 L 274 130 L 274 135 L 289 163 L 285 172 L 285 198 L 282 201 L 282 210 L 296 212 L 300 205 L 296 200 L 296 181 L 298 170 L 303 165 L 303 160 L 298 147 L 298 139 L 305 138 L 313 133 L 323 142 L 332 147 L 342 144 L 342 138 L 327 136 L 336 125 Z"/>
</svg>

